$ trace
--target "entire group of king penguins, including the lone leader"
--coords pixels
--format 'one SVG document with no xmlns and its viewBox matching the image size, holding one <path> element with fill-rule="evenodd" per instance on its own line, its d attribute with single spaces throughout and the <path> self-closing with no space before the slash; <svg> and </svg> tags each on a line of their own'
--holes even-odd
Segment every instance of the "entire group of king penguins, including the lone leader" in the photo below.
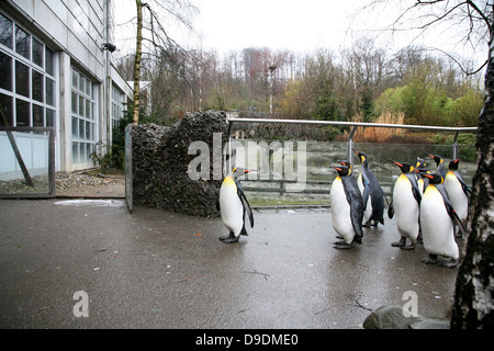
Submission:
<svg viewBox="0 0 494 351">
<path fill-rule="evenodd" d="M 437 263 L 438 256 L 441 256 L 447 259 L 441 265 L 456 267 L 460 256 L 457 238 L 465 233 L 471 194 L 471 189 L 458 171 L 460 160 L 451 160 L 447 170 L 442 157 L 427 152 L 436 162 L 434 171 L 419 157 L 415 166 L 390 160 L 400 167 L 402 173 L 389 202 L 369 168 L 366 152 L 355 149 L 353 152 L 361 162 L 357 179 L 352 173 L 351 161 L 341 160 L 338 166 L 333 167 L 337 177 L 333 181 L 329 199 L 333 228 L 339 239 L 335 242 L 335 248 L 348 249 L 353 244 L 362 244 L 362 227 L 384 224 L 386 201 L 388 217 L 395 218 L 400 234 L 400 240 L 393 242 L 393 247 L 411 250 L 417 242 L 422 242 L 428 252 L 423 262 Z M 247 235 L 246 216 L 250 227 L 254 227 L 252 211 L 239 181 L 249 171 L 251 170 L 234 168 L 220 188 L 217 210 L 229 231 L 227 236 L 220 237 L 223 242 L 237 242 L 240 235 Z"/>
</svg>

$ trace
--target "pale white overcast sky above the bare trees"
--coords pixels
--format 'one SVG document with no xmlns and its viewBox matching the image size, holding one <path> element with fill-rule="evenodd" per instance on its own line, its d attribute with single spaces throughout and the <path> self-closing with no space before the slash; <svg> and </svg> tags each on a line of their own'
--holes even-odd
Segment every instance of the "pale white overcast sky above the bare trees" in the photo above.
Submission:
<svg viewBox="0 0 494 351">
<path fill-rule="evenodd" d="M 425 43 L 447 52 L 458 49 L 451 43 L 439 42 L 441 36 L 437 32 L 417 39 L 412 32 L 392 35 L 381 31 L 397 19 L 413 0 L 388 1 L 366 11 L 359 10 L 370 0 L 190 1 L 199 9 L 191 21 L 193 32 L 170 18 L 161 20 L 168 34 L 184 48 L 202 47 L 218 53 L 240 52 L 247 47 L 290 49 L 295 53 L 314 52 L 317 48 L 337 52 L 341 46 L 349 47 L 356 38 L 367 35 L 378 37 L 377 45 L 386 45 L 391 49 L 404 47 L 412 41 L 416 45 Z M 153 7 L 153 1 L 149 3 Z M 120 49 L 115 54 L 123 56 L 135 49 L 135 1 L 115 0 L 114 7 L 115 45 Z M 445 32 L 448 31 L 451 32 L 447 27 Z M 484 53 L 486 48 L 479 54 L 483 56 Z M 465 54 L 463 52 L 460 55 Z"/>
</svg>

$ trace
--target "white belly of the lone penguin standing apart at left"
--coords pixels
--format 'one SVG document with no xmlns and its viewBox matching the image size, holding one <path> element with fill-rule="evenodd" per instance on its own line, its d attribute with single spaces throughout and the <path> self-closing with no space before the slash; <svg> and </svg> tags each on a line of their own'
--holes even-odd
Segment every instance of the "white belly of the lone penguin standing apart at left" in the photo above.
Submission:
<svg viewBox="0 0 494 351">
<path fill-rule="evenodd" d="M 244 206 L 233 179 L 225 179 L 220 188 L 220 210 L 225 227 L 238 237 L 244 226 Z"/>
</svg>

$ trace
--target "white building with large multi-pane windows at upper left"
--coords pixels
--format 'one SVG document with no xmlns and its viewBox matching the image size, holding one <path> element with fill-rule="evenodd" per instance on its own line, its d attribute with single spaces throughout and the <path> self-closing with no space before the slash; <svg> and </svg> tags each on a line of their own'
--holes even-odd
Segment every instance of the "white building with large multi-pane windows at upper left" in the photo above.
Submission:
<svg viewBox="0 0 494 351">
<path fill-rule="evenodd" d="M 55 127 L 56 171 L 94 167 L 89 155 L 98 143 L 111 144 L 132 97 L 108 49 L 112 5 L 0 1 L 0 103 L 10 126 Z"/>
</svg>

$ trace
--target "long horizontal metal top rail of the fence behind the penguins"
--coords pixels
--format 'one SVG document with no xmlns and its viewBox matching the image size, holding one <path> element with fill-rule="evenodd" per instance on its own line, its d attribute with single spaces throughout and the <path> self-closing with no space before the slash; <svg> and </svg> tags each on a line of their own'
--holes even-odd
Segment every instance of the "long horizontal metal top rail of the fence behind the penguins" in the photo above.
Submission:
<svg viewBox="0 0 494 351">
<path fill-rule="evenodd" d="M 341 122 L 341 121 L 312 121 L 312 120 L 228 118 L 228 122 L 231 123 L 231 126 L 234 123 L 274 123 L 274 124 L 346 125 L 346 126 L 359 126 L 359 127 L 405 128 L 405 129 L 464 132 L 464 133 L 474 133 L 478 131 L 478 127 L 442 127 L 442 126 L 433 126 L 433 125 Z M 232 128 L 229 128 L 229 131 L 232 131 Z"/>
</svg>

